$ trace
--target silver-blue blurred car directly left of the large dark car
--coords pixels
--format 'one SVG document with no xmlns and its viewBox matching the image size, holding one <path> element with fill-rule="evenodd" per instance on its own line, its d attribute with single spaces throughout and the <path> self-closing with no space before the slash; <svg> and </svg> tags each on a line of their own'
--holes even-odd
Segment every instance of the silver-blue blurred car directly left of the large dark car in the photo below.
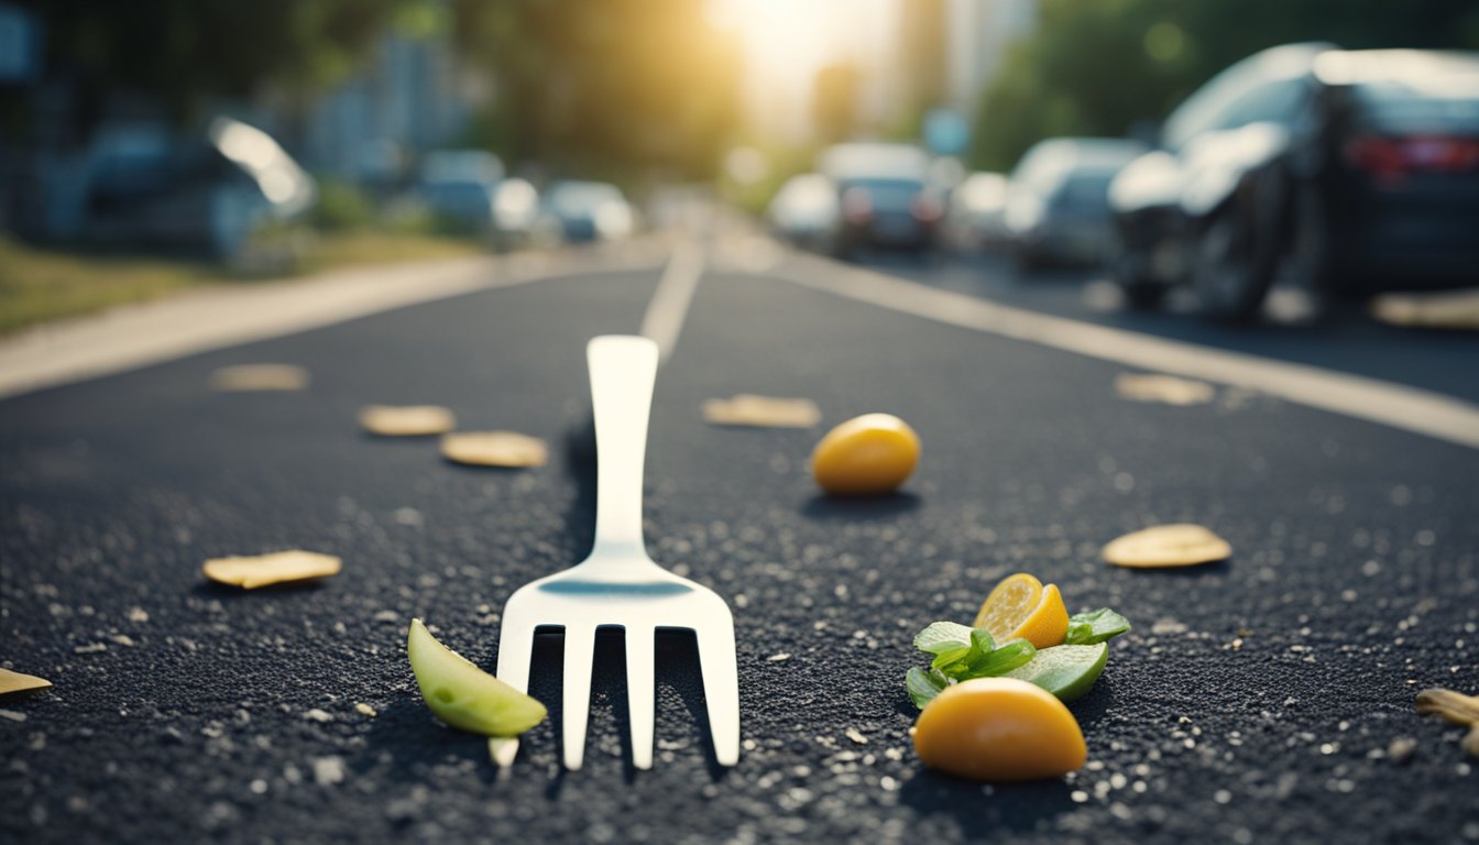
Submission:
<svg viewBox="0 0 1479 845">
<path fill-rule="evenodd" d="M 1003 212 L 1022 268 L 1094 265 L 1114 255 L 1109 182 L 1146 151 L 1118 138 L 1040 141 L 1012 170 Z"/>
</svg>

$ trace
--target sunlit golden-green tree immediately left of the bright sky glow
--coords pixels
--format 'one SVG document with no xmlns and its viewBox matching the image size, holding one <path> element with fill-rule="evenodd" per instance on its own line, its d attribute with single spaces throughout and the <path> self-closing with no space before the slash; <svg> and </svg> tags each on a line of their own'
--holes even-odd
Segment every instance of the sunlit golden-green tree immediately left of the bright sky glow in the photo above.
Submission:
<svg viewBox="0 0 1479 845">
<path fill-rule="evenodd" d="M 460 0 L 495 83 L 485 141 L 566 172 L 710 176 L 738 118 L 738 46 L 703 0 Z"/>
</svg>

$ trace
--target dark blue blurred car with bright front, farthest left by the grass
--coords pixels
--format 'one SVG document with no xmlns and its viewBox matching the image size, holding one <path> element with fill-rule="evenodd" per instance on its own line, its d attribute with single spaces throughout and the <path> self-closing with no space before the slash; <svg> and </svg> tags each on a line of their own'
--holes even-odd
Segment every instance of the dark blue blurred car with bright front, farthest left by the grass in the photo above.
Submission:
<svg viewBox="0 0 1479 845">
<path fill-rule="evenodd" d="M 237 256 L 318 198 L 312 176 L 271 135 L 229 117 L 186 139 L 154 124 L 106 127 L 81 179 L 84 240 L 213 257 Z"/>
</svg>

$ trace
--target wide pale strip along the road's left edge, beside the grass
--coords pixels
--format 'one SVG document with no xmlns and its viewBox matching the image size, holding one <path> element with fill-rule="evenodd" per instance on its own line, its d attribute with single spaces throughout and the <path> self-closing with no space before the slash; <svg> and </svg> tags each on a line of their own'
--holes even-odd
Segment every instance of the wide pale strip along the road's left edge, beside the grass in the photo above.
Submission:
<svg viewBox="0 0 1479 845">
<path fill-rule="evenodd" d="M 0 398 L 475 290 L 583 272 L 645 269 L 657 263 L 654 257 L 646 249 L 618 255 L 518 253 L 348 268 L 308 280 L 201 289 L 38 326 L 0 340 Z"/>
</svg>

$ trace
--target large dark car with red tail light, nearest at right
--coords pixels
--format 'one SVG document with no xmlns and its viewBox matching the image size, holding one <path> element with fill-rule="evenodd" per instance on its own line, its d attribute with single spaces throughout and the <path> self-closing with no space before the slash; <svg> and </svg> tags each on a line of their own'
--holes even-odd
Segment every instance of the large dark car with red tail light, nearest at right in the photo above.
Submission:
<svg viewBox="0 0 1479 845">
<path fill-rule="evenodd" d="M 1284 271 L 1341 296 L 1479 284 L 1479 53 L 1272 47 L 1161 147 L 1111 188 L 1133 305 L 1186 283 L 1242 320 Z"/>
</svg>

